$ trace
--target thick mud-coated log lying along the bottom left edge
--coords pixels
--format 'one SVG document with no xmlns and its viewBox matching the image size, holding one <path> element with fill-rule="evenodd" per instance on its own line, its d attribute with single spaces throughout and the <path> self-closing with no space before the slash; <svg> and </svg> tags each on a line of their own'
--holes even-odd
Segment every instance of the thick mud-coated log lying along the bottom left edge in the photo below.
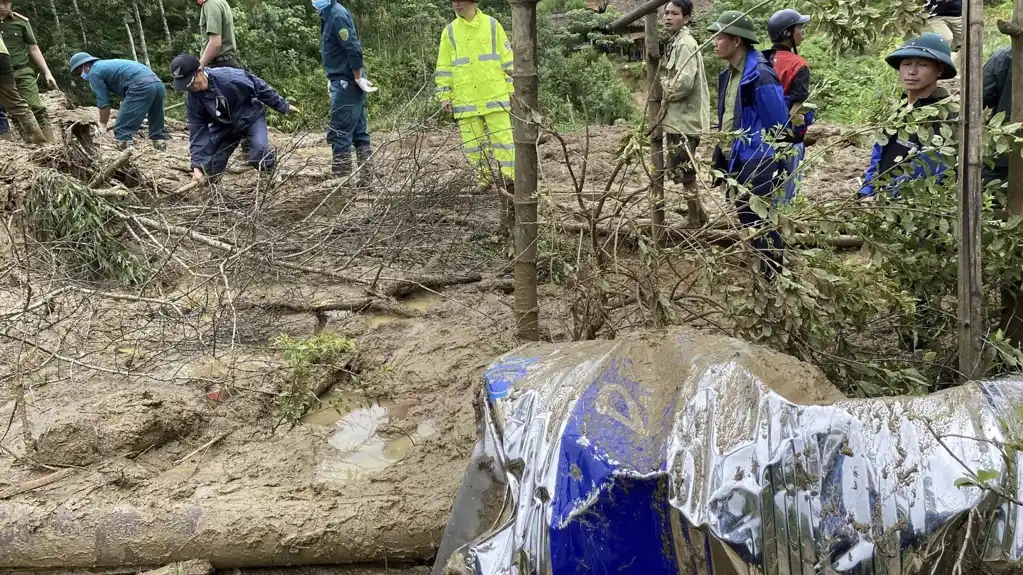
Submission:
<svg viewBox="0 0 1023 575">
<path fill-rule="evenodd" d="M 216 569 L 429 561 L 443 518 L 409 516 L 400 501 L 381 495 L 137 506 L 0 503 L 0 569 L 145 568 L 189 560 Z"/>
</svg>

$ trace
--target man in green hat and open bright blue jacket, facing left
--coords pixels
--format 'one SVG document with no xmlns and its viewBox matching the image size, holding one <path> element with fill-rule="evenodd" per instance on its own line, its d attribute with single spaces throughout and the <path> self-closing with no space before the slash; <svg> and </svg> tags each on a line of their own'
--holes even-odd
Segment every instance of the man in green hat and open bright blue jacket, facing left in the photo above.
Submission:
<svg viewBox="0 0 1023 575">
<path fill-rule="evenodd" d="M 717 122 L 722 132 L 742 132 L 731 145 L 714 149 L 714 166 L 728 174 L 746 188 L 735 194 L 739 221 L 744 227 L 768 222 L 750 206 L 750 194 L 768 197 L 782 168 L 774 158 L 771 143 L 781 136 L 789 121 L 782 84 L 763 54 L 755 49 L 757 30 L 743 12 L 728 10 L 712 23 L 708 31 L 714 35 L 714 54 L 727 65 L 718 78 Z M 761 259 L 766 263 L 768 280 L 781 269 L 782 236 L 770 229 L 754 239 Z"/>
</svg>

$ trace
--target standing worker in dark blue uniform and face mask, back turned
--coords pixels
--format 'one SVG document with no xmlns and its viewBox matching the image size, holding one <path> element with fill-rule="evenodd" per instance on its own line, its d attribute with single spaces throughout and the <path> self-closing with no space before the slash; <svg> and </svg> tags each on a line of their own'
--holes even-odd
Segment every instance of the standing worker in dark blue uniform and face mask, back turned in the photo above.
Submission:
<svg viewBox="0 0 1023 575">
<path fill-rule="evenodd" d="M 372 185 L 366 93 L 376 88 L 363 75 L 362 43 L 355 21 L 338 0 L 313 0 L 320 15 L 320 59 L 330 85 L 330 126 L 326 139 L 332 154 L 331 172 L 352 175 L 352 146 L 359 164 L 359 185 Z"/>
</svg>

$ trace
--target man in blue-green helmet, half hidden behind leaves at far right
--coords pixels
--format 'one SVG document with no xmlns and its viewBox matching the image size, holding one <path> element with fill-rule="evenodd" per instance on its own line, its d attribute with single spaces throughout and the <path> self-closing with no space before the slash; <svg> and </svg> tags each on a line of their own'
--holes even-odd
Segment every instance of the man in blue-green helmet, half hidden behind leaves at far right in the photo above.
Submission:
<svg viewBox="0 0 1023 575">
<path fill-rule="evenodd" d="M 906 42 L 889 54 L 885 61 L 898 71 L 904 90 L 903 99 L 914 108 L 934 105 L 948 98 L 948 92 L 938 87 L 938 80 L 955 78 L 955 65 L 952 63 L 951 48 L 937 34 L 927 33 Z M 950 126 L 954 131 L 955 118 L 951 113 L 945 118 L 935 113 L 927 124 L 934 134 L 938 133 L 941 124 Z M 908 138 L 902 138 L 898 133 L 891 134 L 885 143 L 874 144 L 871 165 L 863 175 L 859 195 L 873 196 L 881 187 L 892 196 L 897 196 L 898 186 L 906 180 L 941 177 L 949 167 L 935 152 L 922 152 L 925 145 L 931 145 L 931 142 L 922 143 L 917 131 L 911 131 Z"/>
</svg>

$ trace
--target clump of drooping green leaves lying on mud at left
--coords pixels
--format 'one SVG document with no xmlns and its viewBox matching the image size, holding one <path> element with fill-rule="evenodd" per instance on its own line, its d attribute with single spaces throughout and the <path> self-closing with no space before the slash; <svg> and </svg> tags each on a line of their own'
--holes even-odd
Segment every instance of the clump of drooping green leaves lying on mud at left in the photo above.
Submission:
<svg viewBox="0 0 1023 575">
<path fill-rule="evenodd" d="M 114 206 L 77 180 L 40 175 L 26 196 L 25 212 L 32 235 L 73 279 L 135 284 L 147 277 L 146 263 L 124 244 L 125 224 Z"/>
</svg>

